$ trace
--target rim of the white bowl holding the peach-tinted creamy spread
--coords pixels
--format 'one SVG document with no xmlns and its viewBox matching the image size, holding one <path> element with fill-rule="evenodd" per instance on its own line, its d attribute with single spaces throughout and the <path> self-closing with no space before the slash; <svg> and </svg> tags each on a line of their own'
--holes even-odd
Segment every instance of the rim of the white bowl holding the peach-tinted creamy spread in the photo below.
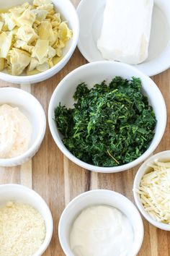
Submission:
<svg viewBox="0 0 170 256">
<path fill-rule="evenodd" d="M 30 158 L 30 155 L 37 149 L 37 147 L 40 145 L 40 143 L 42 142 L 42 140 L 45 136 L 46 116 L 45 116 L 45 111 L 42 108 L 41 103 L 31 93 L 28 93 L 27 91 L 22 90 L 20 88 L 12 88 L 12 87 L 0 88 L 0 93 L 1 93 L 1 91 L 4 91 L 6 93 L 8 93 L 9 91 L 12 91 L 17 94 L 22 93 L 22 94 L 26 95 L 28 98 L 32 98 L 32 100 L 35 102 L 35 104 L 38 106 L 38 108 L 40 110 L 40 119 L 41 119 L 40 132 L 38 133 L 38 136 L 37 136 L 36 140 L 32 143 L 31 147 L 28 148 L 21 155 L 17 155 L 14 158 L 0 158 L 0 166 L 3 166 L 4 164 L 5 165 L 13 164 L 13 163 L 21 162 L 22 160 L 24 160 L 26 158 Z M 31 112 L 30 112 L 30 114 L 31 114 Z M 32 128 L 33 128 L 33 125 L 32 125 Z M 32 129 L 32 132 L 33 132 L 33 129 Z"/>
</svg>

